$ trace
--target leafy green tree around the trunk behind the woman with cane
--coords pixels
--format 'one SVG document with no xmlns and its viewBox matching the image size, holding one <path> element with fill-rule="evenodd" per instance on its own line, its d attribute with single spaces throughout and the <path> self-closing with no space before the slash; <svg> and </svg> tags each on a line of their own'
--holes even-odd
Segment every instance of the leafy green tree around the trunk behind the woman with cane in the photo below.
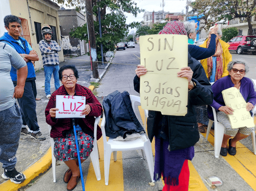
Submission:
<svg viewBox="0 0 256 191">
<path fill-rule="evenodd" d="M 57 1 L 58 3 L 65 3 L 66 6 L 75 7 L 77 11 L 82 11 L 85 9 L 85 0 Z M 132 2 L 131 0 L 92 0 L 92 4 L 93 15 L 96 16 L 96 21 L 93 22 L 95 27 L 94 32 L 97 45 L 97 57 L 98 60 L 101 60 L 100 43 L 102 43 L 104 61 L 106 61 L 105 55 L 107 51 L 113 51 L 115 49 L 115 44 L 124 39 L 124 37 L 128 34 L 128 27 L 134 28 L 139 25 L 138 22 L 125 24 L 126 18 L 124 12 L 129 12 L 136 16 L 137 13 L 144 10 L 139 9 L 136 6 L 136 3 Z M 99 34 L 98 7 L 100 7 L 102 38 L 100 38 Z M 106 9 L 108 9 L 109 12 L 106 12 Z M 86 24 L 81 27 L 71 29 L 70 36 L 80 40 L 85 40 L 85 43 L 88 43 Z"/>
</svg>

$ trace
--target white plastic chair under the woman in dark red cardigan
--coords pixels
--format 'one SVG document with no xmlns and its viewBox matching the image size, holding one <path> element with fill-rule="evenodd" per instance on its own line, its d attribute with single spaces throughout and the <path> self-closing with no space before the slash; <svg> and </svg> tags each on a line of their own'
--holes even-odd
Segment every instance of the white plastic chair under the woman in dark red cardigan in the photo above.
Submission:
<svg viewBox="0 0 256 191">
<path fill-rule="evenodd" d="M 95 171 L 96 179 L 99 181 L 100 177 L 100 162 L 99 162 L 99 155 L 98 155 L 98 145 L 97 145 L 97 125 L 100 122 L 100 117 L 95 119 L 94 123 L 94 140 L 93 140 L 93 151 L 90 153 L 90 159 L 93 163 L 93 168 Z M 48 125 L 49 132 L 52 129 L 52 126 Z M 53 182 L 56 182 L 56 159 L 53 154 L 54 149 L 54 140 L 50 137 L 51 147 L 52 147 L 52 167 L 53 167 Z"/>
</svg>

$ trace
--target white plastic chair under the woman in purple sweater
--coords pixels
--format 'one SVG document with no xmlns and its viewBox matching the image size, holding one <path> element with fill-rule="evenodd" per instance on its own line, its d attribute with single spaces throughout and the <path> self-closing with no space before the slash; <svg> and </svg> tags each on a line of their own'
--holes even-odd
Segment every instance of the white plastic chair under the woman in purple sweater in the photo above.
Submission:
<svg viewBox="0 0 256 191">
<path fill-rule="evenodd" d="M 225 127 L 220 122 L 217 121 L 215 108 L 212 107 L 212 109 L 213 109 L 213 117 L 214 117 L 214 156 L 218 158 L 221 152 L 221 144 L 223 140 Z M 208 136 L 209 136 L 212 125 L 213 125 L 213 120 L 209 119 L 209 124 L 206 131 L 206 140 L 208 140 Z M 253 144 L 253 153 L 256 154 L 255 127 L 251 132 L 251 139 Z"/>
</svg>

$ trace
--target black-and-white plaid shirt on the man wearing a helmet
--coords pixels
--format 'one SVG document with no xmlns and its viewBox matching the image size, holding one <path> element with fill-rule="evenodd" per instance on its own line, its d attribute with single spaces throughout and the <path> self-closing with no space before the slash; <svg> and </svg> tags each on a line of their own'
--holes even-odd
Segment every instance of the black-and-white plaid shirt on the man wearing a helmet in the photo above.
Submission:
<svg viewBox="0 0 256 191">
<path fill-rule="evenodd" d="M 48 49 L 48 47 L 50 47 L 51 49 Z M 61 51 L 61 47 L 56 41 L 51 40 L 50 43 L 47 43 L 45 42 L 45 40 L 41 40 L 39 42 L 39 49 L 42 54 L 43 65 L 59 64 L 59 55 L 57 52 Z"/>
</svg>

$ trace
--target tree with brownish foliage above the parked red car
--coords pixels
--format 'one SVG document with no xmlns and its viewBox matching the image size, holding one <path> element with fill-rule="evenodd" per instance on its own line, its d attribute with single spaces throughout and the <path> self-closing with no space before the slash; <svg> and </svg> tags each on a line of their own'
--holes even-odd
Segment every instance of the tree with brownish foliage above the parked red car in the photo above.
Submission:
<svg viewBox="0 0 256 191">
<path fill-rule="evenodd" d="M 190 14 L 203 15 L 201 19 L 205 20 L 206 30 L 220 20 L 245 18 L 248 34 L 252 35 L 251 18 L 256 15 L 256 0 L 196 0 L 190 6 Z"/>
</svg>

